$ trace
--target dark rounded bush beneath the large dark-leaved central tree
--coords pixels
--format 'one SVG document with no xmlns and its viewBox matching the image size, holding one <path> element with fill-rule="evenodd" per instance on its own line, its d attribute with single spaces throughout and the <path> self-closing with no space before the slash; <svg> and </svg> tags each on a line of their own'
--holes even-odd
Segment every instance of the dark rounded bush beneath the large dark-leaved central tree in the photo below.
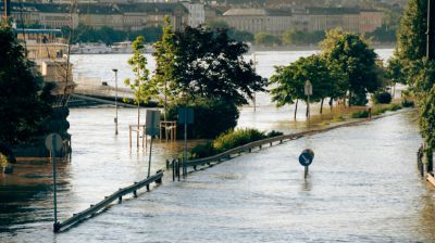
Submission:
<svg viewBox="0 0 435 243">
<path fill-rule="evenodd" d="M 167 117 L 170 120 L 176 120 L 178 107 L 182 105 L 172 105 L 169 107 Z M 222 132 L 234 129 L 237 125 L 239 112 L 237 106 L 231 102 L 224 101 L 198 101 L 189 105 L 194 108 L 194 125 L 188 127 L 188 138 L 191 139 L 214 139 Z M 184 126 L 177 126 L 177 137 L 184 137 Z"/>
</svg>

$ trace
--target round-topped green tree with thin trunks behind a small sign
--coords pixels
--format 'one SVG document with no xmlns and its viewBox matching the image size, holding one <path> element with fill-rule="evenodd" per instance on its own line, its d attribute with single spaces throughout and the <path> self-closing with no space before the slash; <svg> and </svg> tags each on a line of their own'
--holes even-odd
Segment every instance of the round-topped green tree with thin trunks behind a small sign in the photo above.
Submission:
<svg viewBox="0 0 435 243">
<path fill-rule="evenodd" d="M 276 74 L 271 77 L 270 85 L 275 86 L 271 89 L 272 101 L 277 102 L 277 106 L 285 104 L 294 104 L 295 119 L 298 108 L 298 101 L 307 102 L 303 87 L 307 80 L 310 80 L 313 87 L 313 94 L 310 101 L 321 101 L 321 113 L 323 110 L 323 101 L 327 97 L 334 97 L 338 93 L 339 86 L 326 65 L 326 61 L 320 55 L 310 55 L 300 57 L 298 61 L 288 66 L 275 67 Z M 307 105 L 308 115 L 308 105 Z"/>
</svg>

